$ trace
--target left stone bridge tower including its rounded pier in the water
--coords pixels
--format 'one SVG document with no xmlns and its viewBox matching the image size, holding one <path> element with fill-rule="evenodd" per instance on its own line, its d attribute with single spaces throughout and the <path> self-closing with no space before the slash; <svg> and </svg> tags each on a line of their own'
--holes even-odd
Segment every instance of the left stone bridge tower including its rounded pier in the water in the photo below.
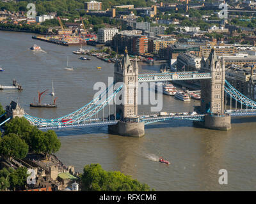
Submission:
<svg viewBox="0 0 256 204">
<path fill-rule="evenodd" d="M 122 103 L 116 105 L 116 114 L 120 121 L 109 126 L 109 132 L 117 135 L 141 137 L 145 135 L 144 122 L 138 118 L 138 73 L 137 61 L 132 63 L 127 48 L 123 59 L 116 60 L 114 83 L 122 82 Z M 124 98 L 122 98 L 124 97 Z"/>
</svg>

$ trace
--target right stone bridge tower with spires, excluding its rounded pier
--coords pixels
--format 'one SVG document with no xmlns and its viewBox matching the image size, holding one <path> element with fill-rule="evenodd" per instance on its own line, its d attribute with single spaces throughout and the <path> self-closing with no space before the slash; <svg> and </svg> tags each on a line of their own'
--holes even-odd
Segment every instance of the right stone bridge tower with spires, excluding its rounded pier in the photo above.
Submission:
<svg viewBox="0 0 256 204">
<path fill-rule="evenodd" d="M 201 80 L 201 112 L 224 113 L 225 61 L 218 59 L 214 48 L 209 57 L 201 60 L 201 71 L 210 72 L 212 78 Z"/>
</svg>

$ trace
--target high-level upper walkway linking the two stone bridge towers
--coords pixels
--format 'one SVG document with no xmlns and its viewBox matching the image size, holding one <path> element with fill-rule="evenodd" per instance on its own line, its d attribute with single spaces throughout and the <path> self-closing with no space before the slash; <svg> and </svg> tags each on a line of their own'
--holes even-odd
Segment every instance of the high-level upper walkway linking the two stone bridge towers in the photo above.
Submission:
<svg viewBox="0 0 256 204">
<path fill-rule="evenodd" d="M 145 73 L 139 75 L 139 82 L 164 82 L 173 80 L 200 80 L 211 78 L 211 73 L 183 71 L 170 73 Z"/>
</svg>

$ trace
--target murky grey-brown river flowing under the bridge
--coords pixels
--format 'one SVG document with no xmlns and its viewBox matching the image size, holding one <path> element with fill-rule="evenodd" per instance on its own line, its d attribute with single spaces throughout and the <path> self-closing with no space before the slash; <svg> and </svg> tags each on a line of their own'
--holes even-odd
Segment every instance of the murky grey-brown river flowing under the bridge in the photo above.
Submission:
<svg viewBox="0 0 256 204">
<path fill-rule="evenodd" d="M 23 91 L 0 91 L 0 103 L 16 100 L 29 115 L 57 118 L 74 112 L 93 99 L 96 82 L 108 84 L 114 64 L 96 57 L 81 61 L 72 54 L 78 46 L 63 47 L 31 38 L 31 33 L 0 31 L 0 84 L 12 85 L 15 78 Z M 33 44 L 44 52 L 29 50 Z M 95 47 L 83 48 L 92 49 Z M 73 66 L 73 71 L 64 69 Z M 138 63 L 139 73 L 156 73 L 159 65 Z M 100 66 L 102 69 L 97 69 Z M 49 89 L 43 101 L 51 102 L 54 83 L 58 108 L 31 108 L 37 91 Z M 199 101 L 183 102 L 163 96 L 163 111 L 190 112 Z M 140 114 L 150 105 L 140 105 Z M 254 120 L 256 122 L 256 120 Z M 83 173 L 86 164 L 99 163 L 108 171 L 121 171 L 147 183 L 156 191 L 255 191 L 256 123 L 232 120 L 230 131 L 195 128 L 191 121 L 170 120 L 145 126 L 145 136 L 131 138 L 109 135 L 107 127 L 57 131 L 61 149 L 56 156 Z M 165 157 L 170 165 L 158 162 Z M 228 184 L 220 185 L 219 170 L 228 171 Z"/>
</svg>

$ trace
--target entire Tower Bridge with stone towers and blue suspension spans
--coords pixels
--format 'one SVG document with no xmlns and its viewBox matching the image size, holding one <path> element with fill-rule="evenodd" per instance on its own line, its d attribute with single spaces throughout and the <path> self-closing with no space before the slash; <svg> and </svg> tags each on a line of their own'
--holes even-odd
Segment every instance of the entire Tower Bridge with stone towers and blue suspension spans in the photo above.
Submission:
<svg viewBox="0 0 256 204">
<path fill-rule="evenodd" d="M 210 129 L 228 130 L 231 128 L 231 117 L 256 116 L 256 102 L 246 98 L 225 80 L 225 61 L 218 59 L 214 50 L 207 59 L 202 57 L 200 71 L 173 73 L 138 73 L 137 61 L 131 62 L 127 50 L 123 59 L 115 62 L 114 82 L 100 93 L 97 98 L 79 108 L 75 112 L 58 119 L 41 119 L 25 113 L 14 101 L 6 106 L 5 122 L 13 117 L 25 117 L 39 129 L 65 129 L 108 126 L 109 132 L 140 137 L 145 135 L 145 125 L 166 120 L 193 120 L 195 124 Z M 200 110 L 192 113 L 168 113 L 160 115 L 138 115 L 138 83 L 164 82 L 172 80 L 200 80 Z M 120 83 L 121 82 L 121 83 Z M 119 86 L 116 87 L 116 85 Z M 114 90 L 115 85 L 115 90 Z M 113 90 L 111 92 L 110 90 Z M 121 93 L 121 94 L 120 94 Z M 108 97 L 107 97 L 108 96 Z M 236 110 L 226 110 L 227 96 L 236 101 Z M 124 97 L 124 98 L 122 98 Z M 117 103 L 118 99 L 124 103 Z M 115 111 L 110 113 L 109 104 L 114 101 Z M 225 103 L 226 101 L 226 103 Z M 237 103 L 241 106 L 237 108 Z M 104 108 L 108 106 L 108 117 L 103 117 Z M 102 117 L 98 117 L 102 112 Z"/>
</svg>

